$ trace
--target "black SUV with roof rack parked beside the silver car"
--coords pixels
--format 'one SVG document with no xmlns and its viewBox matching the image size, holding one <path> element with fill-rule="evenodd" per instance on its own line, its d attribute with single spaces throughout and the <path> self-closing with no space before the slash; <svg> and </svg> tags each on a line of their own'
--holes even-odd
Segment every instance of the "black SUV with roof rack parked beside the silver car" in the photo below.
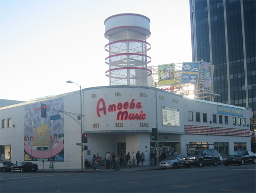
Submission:
<svg viewBox="0 0 256 193">
<path fill-rule="evenodd" d="M 220 161 L 220 156 L 217 150 L 196 150 L 190 156 L 184 157 L 182 163 L 185 168 L 191 165 L 203 167 L 205 164 L 217 166 Z"/>
</svg>

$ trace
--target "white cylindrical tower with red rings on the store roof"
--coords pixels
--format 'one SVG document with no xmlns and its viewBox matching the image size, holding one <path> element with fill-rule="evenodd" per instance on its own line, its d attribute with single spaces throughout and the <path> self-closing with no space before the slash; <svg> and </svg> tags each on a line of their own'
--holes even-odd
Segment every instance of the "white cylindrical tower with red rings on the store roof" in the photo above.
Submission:
<svg viewBox="0 0 256 193">
<path fill-rule="evenodd" d="M 147 77 L 152 74 L 147 69 L 151 62 L 147 56 L 151 46 L 146 42 L 149 24 L 149 18 L 140 14 L 116 14 L 105 20 L 105 37 L 109 40 L 105 46 L 109 70 L 105 75 L 110 85 L 147 86 Z"/>
</svg>

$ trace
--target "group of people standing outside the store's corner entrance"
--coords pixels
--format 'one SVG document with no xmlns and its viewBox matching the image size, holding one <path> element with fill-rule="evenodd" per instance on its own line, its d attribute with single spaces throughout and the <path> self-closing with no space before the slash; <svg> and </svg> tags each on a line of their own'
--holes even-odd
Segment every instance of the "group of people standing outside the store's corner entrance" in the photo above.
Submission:
<svg viewBox="0 0 256 193">
<path fill-rule="evenodd" d="M 112 169 L 114 169 L 115 171 L 116 170 L 119 171 L 120 166 L 123 164 L 125 166 L 128 163 L 128 161 L 131 161 L 133 166 L 136 166 L 136 165 L 139 166 L 140 163 L 144 165 L 143 162 L 145 161 L 145 155 L 143 152 L 142 154 L 140 154 L 140 151 L 138 151 L 136 154 L 133 151 L 132 157 L 130 156 L 130 152 L 128 152 L 127 154 L 119 152 L 119 155 L 115 154 L 114 152 L 112 153 L 106 152 L 106 155 L 105 155 L 106 169 L 110 169 L 112 167 Z M 93 170 L 100 170 L 99 153 L 97 153 L 97 155 L 95 154 L 93 155 L 91 164 L 88 161 L 88 159 L 85 160 L 85 168 L 89 168 L 91 166 L 93 167 Z"/>
</svg>

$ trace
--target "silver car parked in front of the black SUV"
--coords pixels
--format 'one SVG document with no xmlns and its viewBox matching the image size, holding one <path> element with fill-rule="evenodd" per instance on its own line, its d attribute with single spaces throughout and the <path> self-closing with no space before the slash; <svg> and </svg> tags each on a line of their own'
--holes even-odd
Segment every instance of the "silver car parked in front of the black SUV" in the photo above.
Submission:
<svg viewBox="0 0 256 193">
<path fill-rule="evenodd" d="M 178 169 L 179 167 L 182 167 L 182 159 L 186 157 L 186 155 L 171 155 L 165 160 L 162 160 L 159 163 L 159 167 L 161 169 L 164 168 L 173 168 L 173 169 Z"/>
</svg>

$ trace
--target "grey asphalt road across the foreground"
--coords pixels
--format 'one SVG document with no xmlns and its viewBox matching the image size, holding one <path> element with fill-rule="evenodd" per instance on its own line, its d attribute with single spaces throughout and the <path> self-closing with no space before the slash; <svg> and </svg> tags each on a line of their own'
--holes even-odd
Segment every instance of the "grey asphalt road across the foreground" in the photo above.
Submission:
<svg viewBox="0 0 256 193">
<path fill-rule="evenodd" d="M 256 165 L 94 173 L 0 173 L 0 193 L 255 193 Z"/>
</svg>

